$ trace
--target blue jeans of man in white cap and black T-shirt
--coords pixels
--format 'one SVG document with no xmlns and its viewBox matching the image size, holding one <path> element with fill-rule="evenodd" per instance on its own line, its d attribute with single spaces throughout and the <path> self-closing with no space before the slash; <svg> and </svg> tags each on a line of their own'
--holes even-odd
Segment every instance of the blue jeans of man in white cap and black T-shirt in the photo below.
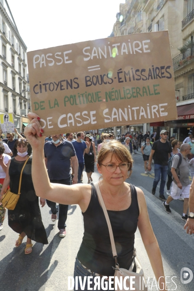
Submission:
<svg viewBox="0 0 194 291">
<path fill-rule="evenodd" d="M 154 164 L 154 182 L 153 182 L 153 188 L 156 189 L 158 182 L 161 179 L 161 185 L 160 185 L 160 195 L 164 194 L 164 187 L 166 183 L 166 176 L 167 176 L 167 169 L 168 166 L 162 166 L 160 164 Z"/>
</svg>

